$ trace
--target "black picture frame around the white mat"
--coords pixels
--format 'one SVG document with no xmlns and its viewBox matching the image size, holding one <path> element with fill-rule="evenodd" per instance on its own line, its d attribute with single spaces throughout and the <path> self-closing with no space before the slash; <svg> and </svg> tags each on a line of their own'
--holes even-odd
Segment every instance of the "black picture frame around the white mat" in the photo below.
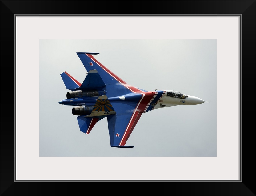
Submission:
<svg viewBox="0 0 256 196">
<path fill-rule="evenodd" d="M 1 195 L 255 195 L 255 5 L 255 0 L 1 1 Z M 116 6 L 126 9 L 116 9 Z M 15 16 L 20 14 L 239 15 L 241 24 L 240 180 L 17 182 L 15 180 L 14 51 Z"/>
</svg>

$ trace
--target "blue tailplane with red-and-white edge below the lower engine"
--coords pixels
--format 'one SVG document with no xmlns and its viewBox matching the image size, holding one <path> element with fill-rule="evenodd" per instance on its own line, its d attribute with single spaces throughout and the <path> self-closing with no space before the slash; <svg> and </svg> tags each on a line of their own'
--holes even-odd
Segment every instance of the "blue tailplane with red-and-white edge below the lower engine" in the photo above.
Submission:
<svg viewBox="0 0 256 196">
<path fill-rule="evenodd" d="M 92 117 L 85 117 L 84 115 L 78 116 L 77 121 L 78 125 L 80 128 L 80 131 L 89 134 L 94 125 L 101 119 L 103 119 L 104 116 L 102 117 L 97 117 L 97 118 L 92 118 Z"/>
</svg>

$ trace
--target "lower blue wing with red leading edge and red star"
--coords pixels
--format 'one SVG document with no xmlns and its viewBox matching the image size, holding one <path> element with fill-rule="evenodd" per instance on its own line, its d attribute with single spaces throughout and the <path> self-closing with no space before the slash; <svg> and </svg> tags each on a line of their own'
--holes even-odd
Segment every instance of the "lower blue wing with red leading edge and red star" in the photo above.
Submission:
<svg viewBox="0 0 256 196">
<path fill-rule="evenodd" d="M 110 146 L 118 148 L 134 147 L 126 146 L 125 144 L 140 119 L 141 114 L 139 111 L 134 111 L 129 114 L 112 114 L 107 116 Z"/>
</svg>

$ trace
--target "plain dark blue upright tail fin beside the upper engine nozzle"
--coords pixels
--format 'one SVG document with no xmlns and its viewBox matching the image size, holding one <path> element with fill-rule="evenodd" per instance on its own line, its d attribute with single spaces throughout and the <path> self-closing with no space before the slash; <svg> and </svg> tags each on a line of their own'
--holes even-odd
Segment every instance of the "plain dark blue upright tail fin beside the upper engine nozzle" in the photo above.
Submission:
<svg viewBox="0 0 256 196">
<path fill-rule="evenodd" d="M 84 79 L 82 85 L 76 90 L 84 90 L 84 89 L 98 89 L 99 87 L 106 86 L 102 81 L 97 70 L 90 70 L 87 73 L 87 76 Z"/>
</svg>

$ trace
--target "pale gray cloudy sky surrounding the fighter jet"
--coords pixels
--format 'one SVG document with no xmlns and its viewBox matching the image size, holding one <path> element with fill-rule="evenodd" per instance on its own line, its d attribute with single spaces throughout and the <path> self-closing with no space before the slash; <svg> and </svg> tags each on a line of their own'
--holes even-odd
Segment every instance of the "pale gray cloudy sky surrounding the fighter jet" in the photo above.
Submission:
<svg viewBox="0 0 256 196">
<path fill-rule="evenodd" d="M 143 113 L 126 145 L 110 147 L 107 119 L 84 134 L 66 99 L 60 74 L 80 83 L 86 70 L 76 52 L 94 57 L 128 84 L 147 91 L 176 90 L 210 103 Z M 40 39 L 39 156 L 191 157 L 217 156 L 217 40 Z"/>
</svg>

